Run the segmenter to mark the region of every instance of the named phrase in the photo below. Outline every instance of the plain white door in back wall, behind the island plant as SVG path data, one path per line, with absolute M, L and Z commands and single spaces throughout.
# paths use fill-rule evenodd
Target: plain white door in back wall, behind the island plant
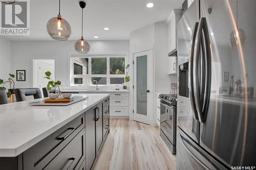
M 38 87 L 43 88 L 48 84 L 48 79 L 46 77 L 45 72 L 50 71 L 52 73 L 51 78 L 55 80 L 55 66 L 54 60 L 47 61 L 38 61 Z

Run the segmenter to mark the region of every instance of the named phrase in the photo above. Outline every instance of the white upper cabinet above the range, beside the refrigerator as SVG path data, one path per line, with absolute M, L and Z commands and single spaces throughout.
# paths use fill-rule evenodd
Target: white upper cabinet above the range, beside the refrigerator
M 174 9 L 165 22 L 167 25 L 167 44 L 169 54 L 177 51 L 176 24 L 180 20 L 181 15 L 182 10 Z

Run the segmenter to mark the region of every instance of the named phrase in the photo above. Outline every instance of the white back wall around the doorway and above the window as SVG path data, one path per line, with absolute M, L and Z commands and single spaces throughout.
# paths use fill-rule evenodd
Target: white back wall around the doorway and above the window
M 89 41 L 92 54 L 129 54 L 129 41 Z M 76 53 L 75 41 L 12 41 L 12 72 L 26 69 L 26 81 L 16 82 L 17 88 L 33 87 L 33 59 L 55 59 L 56 79 L 70 85 L 69 54 Z M 129 61 L 129 60 L 128 60 Z

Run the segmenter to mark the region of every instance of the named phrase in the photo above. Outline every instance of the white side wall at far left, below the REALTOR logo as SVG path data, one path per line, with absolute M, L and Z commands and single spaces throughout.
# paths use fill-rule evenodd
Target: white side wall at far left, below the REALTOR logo
M 0 79 L 7 80 L 9 73 L 15 75 L 11 72 L 11 41 L 0 36 Z

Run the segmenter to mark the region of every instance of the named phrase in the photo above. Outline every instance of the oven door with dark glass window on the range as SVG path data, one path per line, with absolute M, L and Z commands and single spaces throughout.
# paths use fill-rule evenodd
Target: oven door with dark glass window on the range
M 160 129 L 168 140 L 176 144 L 176 109 L 175 106 L 160 101 Z

